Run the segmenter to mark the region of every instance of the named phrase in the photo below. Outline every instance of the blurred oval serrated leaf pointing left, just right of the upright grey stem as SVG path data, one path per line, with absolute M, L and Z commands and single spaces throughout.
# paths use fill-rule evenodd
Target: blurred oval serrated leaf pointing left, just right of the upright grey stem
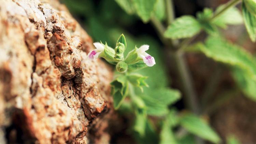
M 189 38 L 199 33 L 200 30 L 201 25 L 193 16 L 182 16 L 168 26 L 164 35 L 172 39 Z

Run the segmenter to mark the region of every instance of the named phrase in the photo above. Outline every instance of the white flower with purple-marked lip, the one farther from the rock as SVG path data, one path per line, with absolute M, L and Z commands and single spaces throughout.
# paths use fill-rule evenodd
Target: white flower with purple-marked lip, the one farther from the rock
M 149 45 L 142 45 L 140 48 L 136 50 L 138 56 L 143 59 L 143 62 L 148 66 L 152 67 L 156 64 L 154 57 L 147 54 L 145 51 L 147 51 L 149 48 Z

